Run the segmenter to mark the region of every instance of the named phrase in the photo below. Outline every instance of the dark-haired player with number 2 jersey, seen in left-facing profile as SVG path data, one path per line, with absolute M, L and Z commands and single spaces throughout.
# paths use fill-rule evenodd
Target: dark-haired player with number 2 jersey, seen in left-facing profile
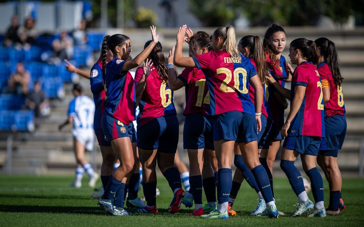
M 317 62 L 316 44 L 312 40 L 297 38 L 290 43 L 289 58 L 297 65 L 292 77 L 291 90 L 283 88 L 272 76 L 268 77 L 274 87 L 291 101 L 288 117 L 281 134 L 283 143 L 281 169 L 288 177 L 299 202 L 290 216 L 300 216 L 307 210 L 307 216 L 325 217 L 324 185 L 316 167 L 316 157 L 324 131 L 324 101 L 320 75 L 312 62 Z M 289 70 L 293 72 L 292 66 Z M 302 181 L 302 175 L 294 166 L 301 156 L 302 167 L 311 181 L 315 204 L 309 200 Z

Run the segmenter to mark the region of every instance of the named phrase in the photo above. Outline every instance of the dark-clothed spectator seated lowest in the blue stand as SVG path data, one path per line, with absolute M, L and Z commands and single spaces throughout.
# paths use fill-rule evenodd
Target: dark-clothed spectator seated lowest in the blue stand
M 29 92 L 25 105 L 35 113 L 35 125 L 39 126 L 43 118 L 50 114 L 49 103 L 39 81 L 34 82 L 34 90 Z

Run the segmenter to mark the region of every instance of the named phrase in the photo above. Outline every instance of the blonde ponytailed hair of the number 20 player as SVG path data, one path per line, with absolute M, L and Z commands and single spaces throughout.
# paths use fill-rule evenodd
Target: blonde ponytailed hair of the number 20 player
M 232 60 L 241 62 L 240 52 L 236 45 L 235 29 L 233 26 L 219 27 L 214 31 L 214 37 L 220 37 L 222 40 L 222 49 L 225 49 L 230 54 Z

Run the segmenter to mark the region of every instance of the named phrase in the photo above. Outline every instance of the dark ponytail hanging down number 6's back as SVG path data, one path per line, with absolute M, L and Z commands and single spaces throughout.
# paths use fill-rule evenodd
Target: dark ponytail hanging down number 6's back
M 144 45 L 144 48 L 149 46 L 151 40 L 147 41 Z M 159 75 L 159 81 L 164 82 L 165 84 L 168 84 L 168 69 L 167 69 L 167 60 L 166 57 L 163 54 L 162 50 L 162 44 L 158 42 L 155 44 L 154 48 L 149 54 L 150 59 L 153 61 L 153 65 L 157 69 L 158 75 Z

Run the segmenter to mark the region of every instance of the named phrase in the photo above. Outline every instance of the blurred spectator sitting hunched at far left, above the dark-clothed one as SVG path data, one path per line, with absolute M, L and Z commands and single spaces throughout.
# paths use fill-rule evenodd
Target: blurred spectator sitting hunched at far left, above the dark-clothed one
M 29 71 L 24 68 L 22 62 L 18 62 L 15 72 L 10 75 L 8 81 L 9 91 L 15 94 L 27 94 L 30 80 L 31 76 Z

